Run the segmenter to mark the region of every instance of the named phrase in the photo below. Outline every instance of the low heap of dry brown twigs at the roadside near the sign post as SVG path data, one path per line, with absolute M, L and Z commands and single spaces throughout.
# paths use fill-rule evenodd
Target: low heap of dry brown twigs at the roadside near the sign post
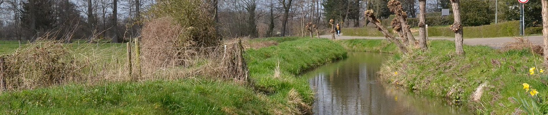
M 502 47 L 501 51 L 510 51 L 510 50 L 532 50 L 534 53 L 539 55 L 544 55 L 544 49 L 540 45 L 534 45 L 529 41 L 527 38 L 522 37 L 514 37 L 516 40 L 515 42 L 508 42 L 504 47 Z

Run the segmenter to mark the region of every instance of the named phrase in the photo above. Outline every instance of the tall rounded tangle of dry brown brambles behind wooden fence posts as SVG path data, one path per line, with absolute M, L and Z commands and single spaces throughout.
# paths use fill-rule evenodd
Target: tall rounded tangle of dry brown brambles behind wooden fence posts
M 168 68 L 175 65 L 189 65 L 186 60 L 195 53 L 190 47 L 195 42 L 187 34 L 190 28 L 182 28 L 172 17 L 162 17 L 147 22 L 141 30 L 142 67 Z

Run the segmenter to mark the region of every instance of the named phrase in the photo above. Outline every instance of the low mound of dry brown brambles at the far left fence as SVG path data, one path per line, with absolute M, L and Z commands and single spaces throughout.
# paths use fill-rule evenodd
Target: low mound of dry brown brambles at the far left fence
M 59 42 L 36 41 L 5 56 L 7 89 L 33 89 L 74 80 L 81 66 Z

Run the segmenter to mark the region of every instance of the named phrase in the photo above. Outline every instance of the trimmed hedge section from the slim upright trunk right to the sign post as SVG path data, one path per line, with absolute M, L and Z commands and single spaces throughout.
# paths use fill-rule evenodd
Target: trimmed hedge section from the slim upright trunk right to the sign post
M 520 35 L 520 22 L 508 21 L 494 25 L 464 27 L 464 38 L 515 37 Z M 449 27 L 429 27 L 429 37 L 455 37 Z

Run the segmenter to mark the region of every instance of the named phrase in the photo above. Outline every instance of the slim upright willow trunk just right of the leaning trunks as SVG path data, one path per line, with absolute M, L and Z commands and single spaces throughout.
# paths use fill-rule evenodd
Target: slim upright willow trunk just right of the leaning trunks
M 426 50 L 428 47 L 426 46 L 426 27 L 425 27 L 425 19 L 426 19 L 426 0 L 419 0 L 419 48 L 421 50 Z

